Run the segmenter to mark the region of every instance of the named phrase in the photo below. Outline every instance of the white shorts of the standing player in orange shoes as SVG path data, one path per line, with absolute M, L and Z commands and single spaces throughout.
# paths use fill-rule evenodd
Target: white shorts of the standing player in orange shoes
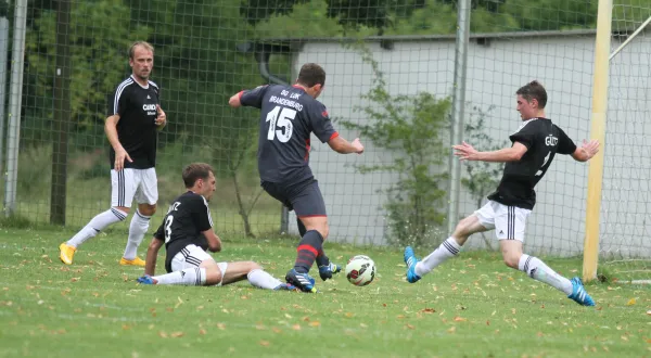
M 158 179 L 155 168 L 111 169 L 111 206 L 131 207 L 133 199 L 138 204 L 156 204 Z

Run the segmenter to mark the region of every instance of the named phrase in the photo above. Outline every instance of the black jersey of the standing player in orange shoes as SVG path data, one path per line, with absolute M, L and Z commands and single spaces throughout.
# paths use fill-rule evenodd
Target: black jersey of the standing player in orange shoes
M 158 86 L 150 80 L 146 88 L 142 87 L 133 77 L 119 84 L 108 101 L 108 116 L 119 115 L 117 138 L 133 161 L 125 161 L 125 168 L 148 169 L 156 165 L 156 104 L 161 104 Z M 113 169 L 113 148 L 110 161 Z

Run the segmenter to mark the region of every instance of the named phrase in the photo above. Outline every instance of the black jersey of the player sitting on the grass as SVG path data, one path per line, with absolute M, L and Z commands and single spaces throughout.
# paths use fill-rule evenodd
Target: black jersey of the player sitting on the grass
M 154 238 L 165 241 L 167 272 L 171 272 L 171 259 L 183 247 L 194 244 L 207 250 L 208 243 L 201 232 L 212 227 L 213 218 L 205 197 L 189 191 L 174 201 L 154 233 Z

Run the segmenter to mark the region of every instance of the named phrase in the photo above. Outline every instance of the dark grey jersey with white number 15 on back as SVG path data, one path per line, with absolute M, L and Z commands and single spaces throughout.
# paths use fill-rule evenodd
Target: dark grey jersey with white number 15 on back
M 310 132 L 326 143 L 339 136 L 326 106 L 298 86 L 260 86 L 240 92 L 245 106 L 260 108 L 258 171 L 263 181 L 301 182 L 309 168 Z

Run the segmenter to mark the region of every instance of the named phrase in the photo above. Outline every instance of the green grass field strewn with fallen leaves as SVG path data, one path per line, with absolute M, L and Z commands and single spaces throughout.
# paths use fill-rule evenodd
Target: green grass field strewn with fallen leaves
M 375 281 L 317 279 L 319 294 L 142 286 L 141 269 L 117 265 L 125 234 L 100 234 L 64 266 L 58 245 L 71 233 L 1 230 L 1 357 L 651 357 L 649 287 L 590 284 L 598 305 L 580 307 L 497 254 L 463 253 L 408 284 L 398 250 L 332 244 L 335 261 L 371 256 Z M 253 259 L 280 278 L 293 264 L 295 239 L 224 239 L 218 260 Z

